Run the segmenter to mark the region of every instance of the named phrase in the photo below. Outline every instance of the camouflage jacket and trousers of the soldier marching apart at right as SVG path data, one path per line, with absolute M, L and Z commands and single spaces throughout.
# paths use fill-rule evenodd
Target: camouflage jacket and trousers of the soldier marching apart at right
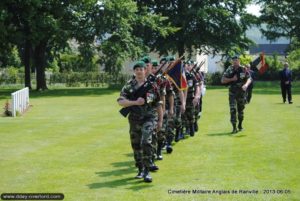
M 245 108 L 245 96 L 246 92 L 242 89 L 242 86 L 247 82 L 247 80 L 251 76 L 246 71 L 245 68 L 239 66 L 235 69 L 233 66 L 229 66 L 227 70 L 224 72 L 223 76 L 226 78 L 232 78 L 234 75 L 237 75 L 237 81 L 229 83 L 229 107 L 230 107 L 230 121 L 235 128 L 237 123 L 237 115 L 238 113 L 238 121 L 239 124 L 244 120 L 244 108 Z

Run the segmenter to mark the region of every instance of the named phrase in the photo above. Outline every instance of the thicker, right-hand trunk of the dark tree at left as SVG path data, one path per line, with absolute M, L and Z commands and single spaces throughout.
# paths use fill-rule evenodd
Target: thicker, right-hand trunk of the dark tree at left
M 46 90 L 46 76 L 45 76 L 45 64 L 46 64 L 46 41 L 41 41 L 34 50 L 34 62 L 36 68 L 36 90 Z

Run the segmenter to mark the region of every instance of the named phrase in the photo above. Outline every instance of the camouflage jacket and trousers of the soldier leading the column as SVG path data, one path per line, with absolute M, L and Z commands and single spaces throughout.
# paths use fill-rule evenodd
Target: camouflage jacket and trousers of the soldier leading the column
M 138 89 L 135 79 L 129 80 L 122 88 L 120 96 L 129 99 Z M 160 104 L 157 87 L 153 85 L 145 98 L 145 104 L 136 106 L 138 110 L 130 112 L 128 120 L 130 126 L 130 141 L 134 153 L 135 165 L 139 169 L 149 169 L 152 163 L 152 135 L 156 128 L 156 107 Z

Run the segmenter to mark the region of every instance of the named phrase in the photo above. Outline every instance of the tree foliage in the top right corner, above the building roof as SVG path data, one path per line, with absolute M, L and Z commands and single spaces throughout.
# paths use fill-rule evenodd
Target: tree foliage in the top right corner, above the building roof
M 269 40 L 287 37 L 300 41 L 300 2 L 295 0 L 259 0 L 260 21 L 266 24 L 262 33 Z

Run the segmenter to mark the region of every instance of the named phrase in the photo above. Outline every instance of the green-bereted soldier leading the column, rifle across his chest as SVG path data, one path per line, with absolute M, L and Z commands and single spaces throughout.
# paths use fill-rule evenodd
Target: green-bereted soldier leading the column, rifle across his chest
M 122 107 L 135 106 L 129 113 L 130 141 L 134 153 L 135 165 L 138 168 L 136 178 L 144 178 L 145 182 L 152 182 L 149 174 L 152 165 L 152 135 L 155 127 L 162 126 L 162 106 L 155 83 L 145 97 L 130 99 L 132 94 L 141 87 L 146 80 L 145 63 L 137 62 L 133 66 L 135 77 L 129 80 L 122 88 L 118 103 Z M 158 115 L 158 121 L 156 122 Z

